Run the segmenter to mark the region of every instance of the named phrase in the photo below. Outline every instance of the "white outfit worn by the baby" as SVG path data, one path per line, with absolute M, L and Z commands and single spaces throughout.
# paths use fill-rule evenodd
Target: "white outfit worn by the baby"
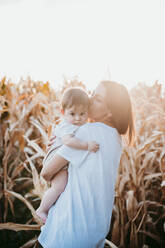
M 43 159 L 43 166 L 53 158 L 58 148 L 63 145 L 62 138 L 65 135 L 75 134 L 78 128 L 79 126 L 73 125 L 64 119 L 57 126 L 53 126 L 52 134 L 56 136 L 56 139 Z

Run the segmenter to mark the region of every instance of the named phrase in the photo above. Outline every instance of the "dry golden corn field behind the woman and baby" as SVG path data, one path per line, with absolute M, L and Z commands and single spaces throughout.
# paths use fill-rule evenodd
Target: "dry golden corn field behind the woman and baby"
M 35 247 L 42 225 L 35 209 L 48 188 L 42 159 L 60 96 L 75 85 L 85 88 L 76 78 L 56 91 L 31 78 L 0 81 L 0 247 Z M 155 82 L 130 94 L 136 140 L 123 148 L 107 240 L 119 248 L 165 247 L 165 93 Z

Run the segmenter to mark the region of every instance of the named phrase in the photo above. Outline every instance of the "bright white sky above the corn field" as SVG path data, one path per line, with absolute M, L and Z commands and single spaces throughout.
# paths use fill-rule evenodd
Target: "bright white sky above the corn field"
M 0 0 L 0 78 L 165 84 L 164 0 Z

